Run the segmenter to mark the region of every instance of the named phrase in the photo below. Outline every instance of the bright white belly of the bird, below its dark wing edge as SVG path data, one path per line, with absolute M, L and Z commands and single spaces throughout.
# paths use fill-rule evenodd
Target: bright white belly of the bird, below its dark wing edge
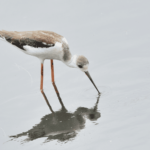
M 32 55 L 35 57 L 38 57 L 42 60 L 44 59 L 57 59 L 62 60 L 63 57 L 63 51 L 62 51 L 62 45 L 55 44 L 53 47 L 48 48 L 35 48 L 29 45 L 24 46 L 25 53 L 28 55 Z

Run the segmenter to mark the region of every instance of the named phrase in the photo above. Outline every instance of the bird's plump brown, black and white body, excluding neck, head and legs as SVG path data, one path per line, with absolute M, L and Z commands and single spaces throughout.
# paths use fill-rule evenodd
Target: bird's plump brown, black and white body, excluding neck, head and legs
M 71 57 L 66 39 L 52 31 L 0 31 L 0 38 L 41 59 L 68 60 Z M 62 50 L 62 52 L 60 52 Z

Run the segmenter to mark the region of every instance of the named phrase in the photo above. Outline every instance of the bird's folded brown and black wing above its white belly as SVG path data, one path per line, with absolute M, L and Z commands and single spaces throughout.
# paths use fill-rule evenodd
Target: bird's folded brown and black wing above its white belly
M 61 42 L 62 36 L 51 31 L 0 31 L 0 37 L 7 42 L 25 50 L 24 46 L 29 45 L 35 48 L 53 47 L 56 42 Z

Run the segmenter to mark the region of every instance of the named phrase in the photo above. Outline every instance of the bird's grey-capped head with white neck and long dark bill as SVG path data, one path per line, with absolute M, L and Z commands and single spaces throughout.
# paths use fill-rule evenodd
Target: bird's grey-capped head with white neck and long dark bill
M 81 71 L 83 71 L 88 76 L 90 81 L 93 83 L 94 87 L 98 91 L 98 94 L 100 94 L 98 88 L 96 87 L 94 81 L 92 80 L 92 77 L 90 76 L 90 74 L 88 72 L 89 61 L 86 57 L 84 57 L 82 55 L 74 55 L 74 56 L 72 56 L 70 62 L 67 63 L 67 65 L 69 67 L 78 68 Z

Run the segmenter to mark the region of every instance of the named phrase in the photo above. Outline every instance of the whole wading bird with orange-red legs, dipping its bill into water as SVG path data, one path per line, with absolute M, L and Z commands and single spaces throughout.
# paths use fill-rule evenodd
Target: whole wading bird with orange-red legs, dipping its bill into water
M 78 68 L 83 71 L 95 86 L 98 94 L 98 88 L 93 82 L 89 72 L 89 61 L 81 55 L 72 55 L 69 45 L 65 37 L 51 31 L 0 31 L 0 39 L 18 47 L 22 52 L 35 56 L 41 61 L 41 85 L 40 90 L 46 100 L 47 105 L 51 109 L 48 99 L 43 91 L 43 63 L 45 59 L 51 61 L 51 78 L 52 84 L 56 91 L 57 97 L 61 102 L 58 89 L 54 81 L 54 64 L 53 59 L 60 60 L 64 64 L 72 68 Z

